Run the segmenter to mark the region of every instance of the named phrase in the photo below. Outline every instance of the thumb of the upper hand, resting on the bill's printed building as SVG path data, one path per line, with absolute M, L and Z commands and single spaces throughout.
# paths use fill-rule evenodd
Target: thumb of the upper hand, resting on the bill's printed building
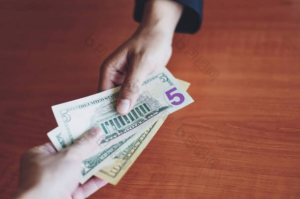
M 133 65 L 128 67 L 117 101 L 117 112 L 119 114 L 128 114 L 133 108 L 139 96 L 140 87 L 147 75 L 147 68 L 145 65 L 141 65 L 141 63 L 135 64 L 134 67 Z

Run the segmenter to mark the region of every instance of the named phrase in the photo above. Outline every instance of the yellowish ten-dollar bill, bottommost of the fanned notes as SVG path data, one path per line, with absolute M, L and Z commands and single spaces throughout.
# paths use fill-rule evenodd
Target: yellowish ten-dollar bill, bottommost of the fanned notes
M 178 80 L 180 85 L 186 90 L 190 85 L 187 82 Z M 168 115 L 167 115 L 168 116 Z M 128 171 L 134 161 L 139 157 L 142 151 L 146 148 L 148 143 L 151 141 L 153 136 L 156 134 L 160 126 L 163 124 L 167 116 L 158 119 L 156 122 L 147 127 L 143 134 L 139 134 L 137 139 L 133 138 L 128 142 L 125 149 L 120 151 L 117 150 L 117 155 L 113 158 L 113 164 L 102 167 L 99 172 L 94 175 L 108 181 L 113 185 L 117 185 L 123 175 Z M 116 153 L 115 153 L 116 154 Z

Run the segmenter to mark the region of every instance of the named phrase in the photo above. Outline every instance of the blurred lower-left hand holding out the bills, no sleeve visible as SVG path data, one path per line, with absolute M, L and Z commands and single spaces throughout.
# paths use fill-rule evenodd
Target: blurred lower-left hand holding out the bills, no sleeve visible
M 21 158 L 14 199 L 85 199 L 106 185 L 95 176 L 79 184 L 81 163 L 102 136 L 100 128 L 93 128 L 59 153 L 49 142 L 28 150 Z

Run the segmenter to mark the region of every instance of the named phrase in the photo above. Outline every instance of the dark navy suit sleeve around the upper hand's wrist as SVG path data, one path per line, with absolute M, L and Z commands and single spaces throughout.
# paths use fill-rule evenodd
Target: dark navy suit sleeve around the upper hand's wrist
M 182 15 L 175 29 L 176 32 L 195 33 L 202 22 L 203 0 L 174 0 L 184 5 Z M 135 0 L 134 20 L 142 21 L 147 0 Z

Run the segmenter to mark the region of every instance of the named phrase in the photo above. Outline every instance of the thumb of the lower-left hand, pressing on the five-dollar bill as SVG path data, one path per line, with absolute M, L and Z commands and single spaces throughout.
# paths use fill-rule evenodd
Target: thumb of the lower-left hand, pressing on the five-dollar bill
M 82 162 L 98 146 L 103 136 L 102 129 L 94 127 L 68 147 L 68 152 Z

